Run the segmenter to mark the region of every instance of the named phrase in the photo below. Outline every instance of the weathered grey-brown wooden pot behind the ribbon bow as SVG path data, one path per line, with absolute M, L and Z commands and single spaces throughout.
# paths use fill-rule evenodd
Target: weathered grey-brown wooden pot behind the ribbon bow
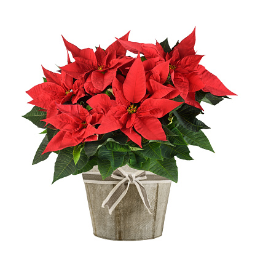
M 122 169 L 127 173 L 137 172 L 128 166 Z M 112 182 L 111 177 L 103 181 L 101 175 L 95 174 L 99 174 L 97 166 L 90 172 L 82 174 L 95 236 L 122 241 L 145 240 L 162 236 L 171 186 L 169 180 L 146 172 L 146 180 L 141 181 L 151 204 L 152 214 L 149 214 L 136 186 L 131 183 L 127 194 L 110 215 L 108 207 L 102 207 L 102 202 L 119 181 Z

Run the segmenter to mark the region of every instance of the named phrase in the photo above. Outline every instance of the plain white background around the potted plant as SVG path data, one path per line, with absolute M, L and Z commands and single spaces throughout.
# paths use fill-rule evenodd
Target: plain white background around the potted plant
M 0 254 L 255 255 L 254 14 L 252 1 L 2 1 Z M 202 64 L 233 92 L 200 119 L 216 152 L 190 146 L 177 159 L 163 236 L 108 241 L 93 236 L 80 175 L 51 185 L 55 154 L 32 166 L 44 135 L 21 118 L 25 91 L 42 82 L 41 65 L 66 64 L 61 34 L 80 48 L 130 41 L 170 46 L 196 26 Z M 120 250 L 123 250 L 120 253 Z

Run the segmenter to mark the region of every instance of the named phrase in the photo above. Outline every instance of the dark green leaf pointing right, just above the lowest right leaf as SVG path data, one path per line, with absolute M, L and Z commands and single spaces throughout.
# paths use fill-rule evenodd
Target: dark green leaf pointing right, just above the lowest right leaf
M 193 158 L 190 157 L 189 148 L 184 145 L 176 145 L 176 146 L 170 146 L 162 144 L 160 146 L 162 151 L 163 158 L 173 158 L 174 156 L 177 156 L 178 158 L 184 159 L 184 160 L 193 160 Z

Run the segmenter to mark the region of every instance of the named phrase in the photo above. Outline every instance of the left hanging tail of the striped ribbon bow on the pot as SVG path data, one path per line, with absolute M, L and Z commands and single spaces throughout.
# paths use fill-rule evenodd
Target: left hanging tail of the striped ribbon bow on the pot
M 130 185 L 130 182 L 125 184 L 128 179 L 124 178 L 121 182 L 119 182 L 114 188 L 112 188 L 111 192 L 108 194 L 107 198 L 104 199 L 102 203 L 102 207 L 108 206 L 109 214 L 112 214 L 112 210 L 115 209 L 117 204 L 124 198 L 125 194 L 127 194 L 128 187 Z

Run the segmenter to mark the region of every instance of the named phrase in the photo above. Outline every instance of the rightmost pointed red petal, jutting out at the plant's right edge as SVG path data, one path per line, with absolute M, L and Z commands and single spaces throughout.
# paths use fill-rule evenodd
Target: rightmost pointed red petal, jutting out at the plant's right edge
M 205 87 L 202 88 L 204 92 L 211 92 L 216 96 L 237 95 L 227 89 L 219 78 L 206 70 L 204 66 L 198 65 L 197 71 L 202 74 L 202 80 L 205 83 Z

